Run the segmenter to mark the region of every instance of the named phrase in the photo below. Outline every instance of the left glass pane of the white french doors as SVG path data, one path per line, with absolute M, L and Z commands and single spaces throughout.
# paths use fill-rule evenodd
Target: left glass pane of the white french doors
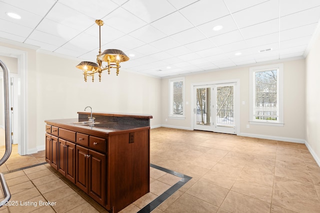
M 196 124 L 210 125 L 210 88 L 196 89 Z

